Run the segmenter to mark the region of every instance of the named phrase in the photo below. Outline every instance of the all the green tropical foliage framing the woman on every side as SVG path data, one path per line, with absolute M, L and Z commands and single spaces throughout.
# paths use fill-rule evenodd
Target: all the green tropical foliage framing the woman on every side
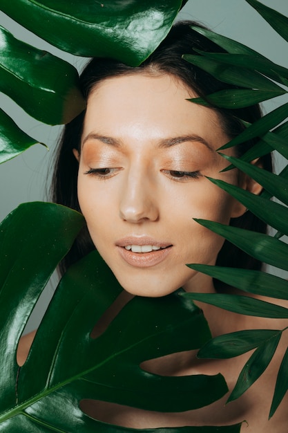
M 259 1 L 246 1 L 288 41 L 286 17 Z M 46 0 L 45 4 L 35 0 L 1 1 L 3 12 L 62 50 L 77 55 L 118 57 L 132 66 L 142 62 L 161 42 L 180 7 L 180 0 L 149 0 L 145 6 L 136 0 L 105 3 L 85 0 L 81 8 L 71 0 Z M 287 93 L 286 68 L 231 39 L 202 28 L 196 30 L 227 50 L 227 54 L 198 53 L 184 58 L 220 80 L 240 87 L 238 91 L 210 95 L 213 104 L 247 107 Z M 7 30 L 2 29 L 0 35 L 1 91 L 31 116 L 51 125 L 68 122 L 84 108 L 73 66 L 17 41 Z M 199 99 L 193 102 L 206 103 Z M 276 176 L 249 162 L 274 149 L 287 158 L 288 124 L 282 123 L 287 112 L 284 104 L 255 124 L 246 125 L 247 129 L 225 146 L 261 137 L 241 159 L 229 160 L 265 188 L 262 196 L 211 179 L 275 228 L 275 237 L 198 220 L 253 257 L 286 270 L 288 246 L 280 238 L 288 234 L 288 169 Z M 0 162 L 37 142 L 2 111 L 0 125 Z M 272 196 L 280 203 L 271 201 Z M 242 395 L 262 374 L 273 357 L 282 330 L 241 331 L 211 340 L 206 320 L 190 302 L 202 300 L 238 313 L 288 318 L 288 309 L 251 297 L 186 294 L 181 290 L 162 299 L 137 297 L 101 335 L 91 338 L 95 322 L 122 291 L 96 252 L 75 264 L 63 277 L 39 326 L 28 360 L 19 367 L 15 354 L 28 317 L 83 224 L 83 217 L 77 212 L 50 203 L 21 205 L 1 223 L 1 431 L 124 432 L 127 430 L 124 427 L 86 416 L 79 402 L 93 398 L 142 409 L 182 412 L 208 405 L 226 394 L 227 385 L 221 375 L 171 378 L 150 374 L 140 367 L 144 360 L 177 351 L 202 347 L 199 352 L 202 358 L 231 358 L 256 349 L 229 400 Z M 279 277 L 249 270 L 189 266 L 244 292 L 288 299 L 288 283 Z M 270 416 L 288 389 L 287 368 L 285 353 Z M 240 424 L 182 427 L 169 432 L 181 430 L 236 433 L 240 432 Z

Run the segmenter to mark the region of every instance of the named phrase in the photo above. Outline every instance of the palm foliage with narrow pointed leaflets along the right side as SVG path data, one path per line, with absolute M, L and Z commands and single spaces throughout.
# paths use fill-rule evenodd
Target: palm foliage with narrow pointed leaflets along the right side
M 262 5 L 259 1 L 247 0 L 247 2 L 258 10 L 279 35 L 288 42 L 287 17 Z M 209 71 L 209 73 L 218 77 L 223 82 L 234 83 L 240 86 L 240 89 L 236 91 L 227 90 L 208 95 L 207 98 L 211 104 L 227 108 L 247 107 L 255 102 L 272 98 L 273 95 L 287 93 L 288 70 L 286 68 L 273 64 L 269 59 L 251 50 L 251 48 L 242 46 L 235 41 L 231 41 L 231 39 L 216 35 L 208 30 L 197 28 L 195 30 L 198 30 L 216 42 L 216 44 L 227 50 L 227 53 L 199 53 L 200 56 L 186 55 L 184 57 L 187 61 L 204 68 L 205 71 Z M 200 98 L 195 98 L 193 102 L 207 104 L 207 102 L 204 102 Z M 204 227 L 220 234 L 256 259 L 284 270 L 288 270 L 288 246 L 280 238 L 288 234 L 288 166 L 279 175 L 276 175 L 266 172 L 264 169 L 260 169 L 249 162 L 273 150 L 278 151 L 284 158 L 288 157 L 288 124 L 287 122 L 282 123 L 286 120 L 287 116 L 288 104 L 286 102 L 278 109 L 263 116 L 262 119 L 256 121 L 253 125 L 246 125 L 247 129 L 240 136 L 219 149 L 221 151 L 222 149 L 238 145 L 245 140 L 260 137 L 257 145 L 248 151 L 247 154 L 244 154 L 242 158 L 223 156 L 231 162 L 230 168 L 238 167 L 242 172 L 247 173 L 264 187 L 264 192 L 261 196 L 255 196 L 223 181 L 210 179 L 211 182 L 238 199 L 262 221 L 275 228 L 277 230 L 275 236 L 272 237 L 268 234 L 259 234 L 240 228 L 227 227 L 213 221 L 196 220 L 198 223 L 204 225 Z M 272 131 L 270 131 L 271 129 Z M 275 197 L 278 203 L 271 201 L 271 197 Z M 189 266 L 207 275 L 216 277 L 220 281 L 239 288 L 244 292 L 288 300 L 288 283 L 279 277 L 253 270 L 219 268 L 218 266 L 199 264 L 190 264 Z M 236 313 L 258 317 L 288 318 L 287 308 L 248 296 L 226 294 L 204 295 L 201 293 L 186 293 L 184 296 L 192 300 L 208 302 L 209 304 Z M 278 331 L 240 331 L 231 333 L 230 335 L 222 335 L 211 340 L 200 350 L 200 358 L 232 358 L 256 348 L 249 361 L 244 365 L 236 387 L 231 392 L 228 401 L 241 396 L 265 371 L 276 351 L 282 331 L 285 331 L 285 329 Z M 273 416 L 287 392 L 287 369 L 288 351 L 283 357 L 276 380 L 270 417 Z

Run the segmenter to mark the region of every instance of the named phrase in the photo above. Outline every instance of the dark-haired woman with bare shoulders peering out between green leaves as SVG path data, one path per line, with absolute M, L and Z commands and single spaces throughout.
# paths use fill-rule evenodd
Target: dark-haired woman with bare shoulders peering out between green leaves
M 207 293 L 225 289 L 188 268 L 188 263 L 261 266 L 193 221 L 203 218 L 266 230 L 264 223 L 206 178 L 220 178 L 260 194 L 260 185 L 236 169 L 222 172 L 227 161 L 217 153 L 242 131 L 238 118 L 254 122 L 260 118 L 260 109 L 220 110 L 189 101 L 228 87 L 182 59 L 194 48 L 219 50 L 191 30 L 191 24 L 175 25 L 155 53 L 137 68 L 113 59 L 93 59 L 81 74 L 86 112 L 66 125 L 59 147 L 53 198 L 80 210 L 88 228 L 62 269 L 96 247 L 131 295 L 158 297 L 180 286 Z M 241 156 L 252 145 L 246 142 L 227 154 Z M 255 163 L 271 170 L 270 155 Z M 263 323 L 213 306 L 201 307 L 213 335 L 284 327 L 275 320 Z M 19 362 L 25 359 L 31 338 L 23 342 Z M 146 368 L 167 375 L 220 371 L 231 389 L 247 358 L 245 354 L 232 361 L 200 362 L 195 353 L 179 353 L 149 362 Z M 127 427 L 229 425 L 246 419 L 244 432 L 284 432 L 284 404 L 267 421 L 273 395 L 272 390 L 267 391 L 267 380 L 270 385 L 275 380 L 279 359 L 276 356 L 267 374 L 228 407 L 224 407 L 225 396 L 209 407 L 181 414 L 99 402 L 88 402 L 83 410 L 99 420 Z

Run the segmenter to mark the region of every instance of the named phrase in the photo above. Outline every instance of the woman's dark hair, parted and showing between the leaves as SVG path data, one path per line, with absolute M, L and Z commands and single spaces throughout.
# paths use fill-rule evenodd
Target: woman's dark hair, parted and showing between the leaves
M 197 55 L 195 49 L 208 52 L 224 52 L 219 46 L 193 30 L 191 26 L 199 26 L 199 24 L 193 21 L 177 22 L 160 46 L 137 67 L 127 66 L 111 58 L 91 59 L 80 76 L 80 87 L 84 98 L 87 100 L 95 84 L 106 78 L 144 72 L 151 75 L 169 74 L 175 76 L 193 92 L 206 99 L 207 95 L 216 91 L 236 89 L 236 86 L 224 84 L 209 73 L 182 59 L 184 54 Z M 219 109 L 217 107 L 213 109 L 218 112 L 222 127 L 227 136 L 231 138 L 238 136 L 244 129 L 240 119 L 253 123 L 261 117 L 258 104 L 244 109 Z M 84 116 L 85 112 L 82 112 L 64 127 L 57 148 L 54 176 L 52 176 L 52 200 L 78 211 L 80 211 L 77 199 L 78 163 L 73 156 L 73 149 L 79 150 Z M 250 140 L 238 146 L 236 149 L 238 156 L 242 156 L 256 141 L 256 139 Z M 271 154 L 262 156 L 261 164 L 264 169 L 271 171 Z M 266 224 L 249 211 L 236 219 L 231 219 L 230 225 L 256 232 L 266 232 L 267 230 Z M 62 262 L 61 271 L 64 272 L 70 264 L 73 264 L 73 262 L 94 248 L 88 230 L 85 228 L 79 234 L 73 248 Z M 224 242 L 218 254 L 217 264 L 249 269 L 260 269 L 261 267 L 260 261 L 253 259 L 228 241 Z

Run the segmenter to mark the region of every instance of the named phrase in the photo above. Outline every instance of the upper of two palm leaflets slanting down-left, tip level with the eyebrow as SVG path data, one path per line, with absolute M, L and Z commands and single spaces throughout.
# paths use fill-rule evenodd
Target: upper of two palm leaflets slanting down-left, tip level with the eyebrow
M 252 138 L 263 136 L 265 133 L 273 127 L 276 127 L 280 122 L 285 120 L 288 116 L 288 102 L 281 105 L 277 109 L 266 114 L 261 119 L 256 120 L 251 127 L 245 129 L 239 136 L 233 138 L 226 145 L 220 147 L 218 150 L 229 149 L 236 145 L 240 145 L 242 142 L 251 140 Z

